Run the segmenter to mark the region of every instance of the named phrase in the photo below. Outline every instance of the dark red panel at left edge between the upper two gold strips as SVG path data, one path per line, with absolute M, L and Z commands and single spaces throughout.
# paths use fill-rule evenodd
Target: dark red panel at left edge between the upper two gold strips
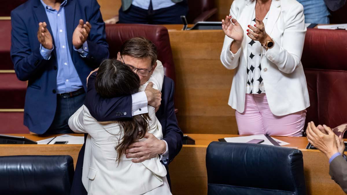
M 0 20 L 0 70 L 13 70 L 10 49 L 11 20 Z

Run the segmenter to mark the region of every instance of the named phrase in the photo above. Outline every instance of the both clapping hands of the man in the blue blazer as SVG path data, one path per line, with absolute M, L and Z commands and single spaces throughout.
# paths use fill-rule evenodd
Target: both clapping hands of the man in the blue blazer
M 84 24 L 83 20 L 79 20 L 79 24 L 75 28 L 74 34 L 72 35 L 72 44 L 76 49 L 81 48 L 83 43 L 87 40 L 92 25 L 89 22 Z M 53 39 L 51 33 L 47 29 L 45 22 L 39 23 L 39 30 L 37 31 L 37 39 L 46 49 L 53 49 Z

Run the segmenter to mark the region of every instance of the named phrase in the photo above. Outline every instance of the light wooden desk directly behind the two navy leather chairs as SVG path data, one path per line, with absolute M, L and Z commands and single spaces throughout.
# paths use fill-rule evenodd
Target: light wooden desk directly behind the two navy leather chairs
M 16 135 L 16 134 L 12 134 Z M 170 164 L 170 177 L 174 195 L 207 194 L 206 148 L 219 138 L 238 135 L 187 134 L 195 139 L 196 145 L 184 145 Z M 20 134 L 38 141 L 52 136 Z M 79 134 L 79 136 L 83 136 Z M 306 150 L 305 137 L 279 137 L 290 143 L 288 147 L 298 147 L 303 152 L 304 174 L 308 195 L 343 195 L 342 189 L 329 176 L 329 163 L 324 154 L 317 150 Z M 5 155 L 70 155 L 76 166 L 78 152 L 82 145 L 0 145 L 0 156 Z

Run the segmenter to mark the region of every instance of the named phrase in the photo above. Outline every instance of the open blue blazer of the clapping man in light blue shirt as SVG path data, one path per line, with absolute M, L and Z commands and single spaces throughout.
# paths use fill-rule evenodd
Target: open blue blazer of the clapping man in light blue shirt
M 70 54 L 85 89 L 89 73 L 109 56 L 105 24 L 99 8 L 96 0 L 68 0 L 65 5 Z M 87 40 L 89 53 L 86 58 L 82 58 L 72 44 L 72 35 L 79 19 L 92 25 Z M 40 22 L 46 22 L 48 30 L 53 34 L 40 0 L 28 0 L 11 11 L 11 59 L 18 79 L 28 80 L 24 125 L 37 134 L 45 133 L 52 124 L 57 107 L 58 73 L 55 49 L 49 60 L 44 60 L 40 54 L 40 42 L 37 40 Z

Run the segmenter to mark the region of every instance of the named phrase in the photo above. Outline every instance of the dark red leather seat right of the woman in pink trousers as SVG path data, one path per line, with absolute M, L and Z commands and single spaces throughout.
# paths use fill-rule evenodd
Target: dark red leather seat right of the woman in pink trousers
M 347 31 L 307 29 L 302 63 L 311 106 L 307 122 L 347 122 Z M 305 126 L 305 129 L 306 129 Z

